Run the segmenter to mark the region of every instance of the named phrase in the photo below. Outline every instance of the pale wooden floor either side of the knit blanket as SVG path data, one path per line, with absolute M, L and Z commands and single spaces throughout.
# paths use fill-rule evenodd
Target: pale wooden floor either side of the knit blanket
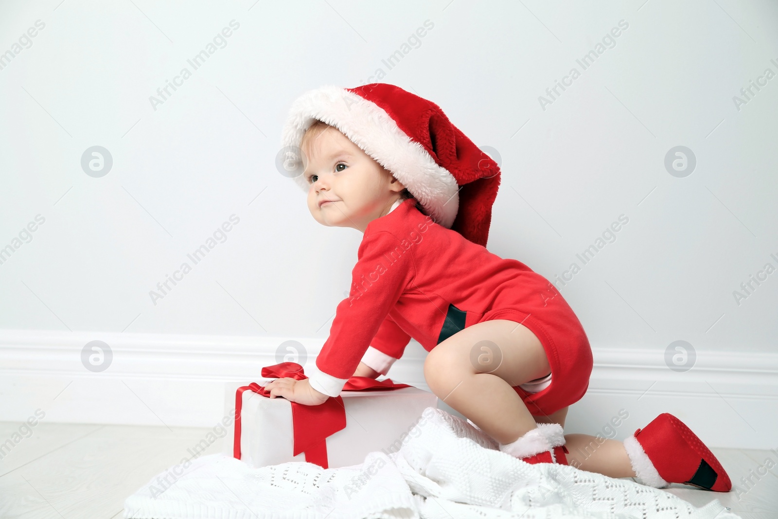
M 0 442 L 19 430 L 19 423 L 0 422 Z M 124 499 L 152 476 L 191 457 L 187 449 L 209 429 L 165 426 L 105 426 L 39 423 L 0 461 L 2 519 L 110 519 L 123 517 Z M 222 450 L 221 439 L 204 454 Z M 748 489 L 740 499 L 679 485 L 668 492 L 703 506 L 719 499 L 746 519 L 778 517 L 778 466 L 753 484 L 741 476 L 756 472 L 769 451 L 713 449 L 734 485 Z M 750 489 L 749 489 L 750 488 Z

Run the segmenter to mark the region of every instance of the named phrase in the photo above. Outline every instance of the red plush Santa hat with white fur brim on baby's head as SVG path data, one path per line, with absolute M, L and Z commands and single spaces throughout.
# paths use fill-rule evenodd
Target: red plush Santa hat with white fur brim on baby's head
M 282 146 L 297 160 L 316 120 L 389 170 L 433 221 L 486 246 L 499 167 L 435 103 L 387 83 L 310 90 L 293 102 L 282 131 Z M 308 191 L 302 168 L 296 170 L 294 180 Z

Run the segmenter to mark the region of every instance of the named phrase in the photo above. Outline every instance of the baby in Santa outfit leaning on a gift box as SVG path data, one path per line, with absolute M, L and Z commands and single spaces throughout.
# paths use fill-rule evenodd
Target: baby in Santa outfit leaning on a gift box
M 311 215 L 363 233 L 349 297 L 306 367 L 271 398 L 320 405 L 349 377 L 386 374 L 414 338 L 435 395 L 528 463 L 656 487 L 727 492 L 713 453 L 679 419 L 626 440 L 563 433 L 593 366 L 580 321 L 551 282 L 485 248 L 499 167 L 429 100 L 384 83 L 326 86 L 296 100 L 283 136 L 300 149 Z

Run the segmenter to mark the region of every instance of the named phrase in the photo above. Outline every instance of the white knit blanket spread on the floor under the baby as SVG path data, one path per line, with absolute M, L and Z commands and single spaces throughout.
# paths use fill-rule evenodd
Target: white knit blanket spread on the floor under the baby
M 176 478 L 171 481 L 170 472 L 152 478 L 124 502 L 124 517 L 738 517 L 718 500 L 696 508 L 629 479 L 566 465 L 527 464 L 499 451 L 470 423 L 432 407 L 397 452 L 371 452 L 361 465 L 324 469 L 291 462 L 250 468 L 226 454 L 211 454 Z

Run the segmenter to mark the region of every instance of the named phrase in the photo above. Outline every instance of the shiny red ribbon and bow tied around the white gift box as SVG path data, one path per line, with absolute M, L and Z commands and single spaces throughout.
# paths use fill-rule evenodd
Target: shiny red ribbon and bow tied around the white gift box
M 293 378 L 304 380 L 308 378 L 303 373 L 303 366 L 298 363 L 280 363 L 262 368 L 265 378 Z M 393 390 L 401 387 L 411 387 L 408 384 L 394 384 L 391 378 L 375 380 L 370 377 L 350 377 L 343 386 L 343 391 L 375 391 Z M 270 398 L 270 391 L 265 390 L 256 382 L 238 387 L 235 392 L 235 439 L 233 440 L 233 456 L 240 459 L 240 409 L 243 407 L 244 391 L 251 390 L 263 397 Z M 330 397 L 321 405 L 303 405 L 292 403 L 292 430 L 294 434 L 293 456 L 305 453 L 305 461 L 328 468 L 327 437 L 345 429 L 345 407 L 341 396 Z

